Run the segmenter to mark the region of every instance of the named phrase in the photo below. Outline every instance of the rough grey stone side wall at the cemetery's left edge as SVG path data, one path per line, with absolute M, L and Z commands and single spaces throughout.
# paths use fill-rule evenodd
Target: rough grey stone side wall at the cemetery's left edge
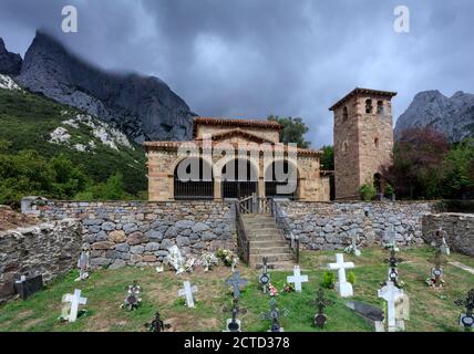
M 45 283 L 76 264 L 82 244 L 81 223 L 63 219 L 0 232 L 0 302 L 14 294 L 20 275 L 43 274 Z

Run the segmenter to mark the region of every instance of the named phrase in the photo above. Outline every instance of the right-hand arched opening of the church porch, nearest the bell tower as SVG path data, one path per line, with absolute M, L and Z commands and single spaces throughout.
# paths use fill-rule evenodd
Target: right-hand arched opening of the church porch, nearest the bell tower
M 282 180 L 282 177 L 286 179 Z M 267 198 L 297 199 L 298 169 L 293 164 L 282 160 L 274 162 L 267 167 L 265 171 L 265 196 Z

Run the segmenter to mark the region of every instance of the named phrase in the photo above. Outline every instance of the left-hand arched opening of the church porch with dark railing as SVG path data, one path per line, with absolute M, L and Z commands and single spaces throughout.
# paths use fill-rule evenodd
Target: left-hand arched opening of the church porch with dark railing
M 175 200 L 213 200 L 214 176 L 212 166 L 197 157 L 181 162 L 174 171 L 174 198 Z

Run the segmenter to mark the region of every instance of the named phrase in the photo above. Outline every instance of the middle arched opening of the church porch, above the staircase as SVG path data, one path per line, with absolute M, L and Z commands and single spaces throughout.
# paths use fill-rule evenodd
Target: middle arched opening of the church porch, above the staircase
M 223 167 L 223 198 L 241 199 L 257 192 L 258 174 L 248 159 L 233 159 Z

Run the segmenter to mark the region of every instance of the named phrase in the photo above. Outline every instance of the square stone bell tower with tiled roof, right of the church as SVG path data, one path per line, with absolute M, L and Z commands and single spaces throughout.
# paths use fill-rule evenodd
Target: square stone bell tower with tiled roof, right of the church
M 334 114 L 336 199 L 357 200 L 359 187 L 383 189 L 381 167 L 393 160 L 391 100 L 395 92 L 356 88 L 329 110 Z

